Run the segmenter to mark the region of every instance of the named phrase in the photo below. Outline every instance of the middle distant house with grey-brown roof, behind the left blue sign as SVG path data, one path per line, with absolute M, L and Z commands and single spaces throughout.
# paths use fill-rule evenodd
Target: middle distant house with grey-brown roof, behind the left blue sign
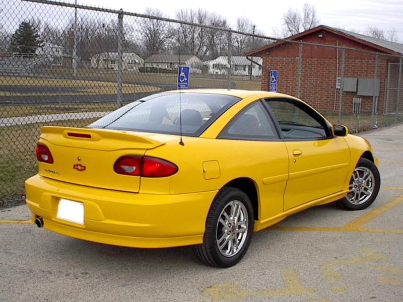
M 191 73 L 201 73 L 203 62 L 195 55 L 181 54 L 180 64 L 190 67 Z M 176 72 L 179 66 L 179 56 L 177 54 L 153 54 L 145 60 L 144 66 L 147 70 L 169 70 Z

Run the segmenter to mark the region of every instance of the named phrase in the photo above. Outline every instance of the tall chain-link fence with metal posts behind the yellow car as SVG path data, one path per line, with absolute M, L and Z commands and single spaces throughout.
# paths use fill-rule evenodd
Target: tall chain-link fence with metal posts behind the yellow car
M 217 16 L 176 21 L 43 0 L 0 9 L 0 206 L 24 200 L 41 126 L 86 126 L 176 89 L 179 65 L 190 67 L 189 88 L 270 90 L 277 70 L 278 92 L 353 131 L 402 120 L 396 55 L 237 32 Z

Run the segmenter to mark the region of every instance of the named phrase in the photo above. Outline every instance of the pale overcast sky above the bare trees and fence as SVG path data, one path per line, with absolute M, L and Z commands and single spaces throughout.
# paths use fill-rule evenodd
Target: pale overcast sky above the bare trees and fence
M 74 3 L 74 0 L 64 0 L 62 2 Z M 181 8 L 201 8 L 225 17 L 233 29 L 235 29 L 237 18 L 247 17 L 268 36 L 274 36 L 276 28 L 280 32 L 283 24 L 283 14 L 290 7 L 301 10 L 304 2 L 296 0 L 255 0 L 252 2 L 217 0 L 78 0 L 78 4 L 82 5 L 116 10 L 123 9 L 133 13 L 144 13 L 147 7 L 158 8 L 169 18 L 175 18 L 175 11 Z M 310 0 L 307 3 L 314 5 L 320 24 L 346 30 L 354 29 L 356 32 L 363 34 L 365 34 L 368 26 L 375 26 L 385 31 L 394 28 L 397 31 L 399 42 L 403 43 L 403 0 Z M 14 7 L 14 11 L 7 11 L 8 7 Z M 12 25 L 12 27 L 18 26 L 17 21 L 26 18 L 30 8 L 39 7 L 43 10 L 42 16 L 46 16 L 49 20 L 55 22 L 54 18 L 52 19 L 51 17 L 52 12 L 57 11 L 55 7 L 22 3 L 21 0 L 2 0 L 0 3 L 0 23 L 4 22 L 6 27 L 9 27 L 9 25 Z M 47 11 L 47 9 L 49 10 Z M 38 11 L 35 11 L 35 14 L 38 14 Z M 10 19 L 13 19 L 13 24 L 11 24 Z

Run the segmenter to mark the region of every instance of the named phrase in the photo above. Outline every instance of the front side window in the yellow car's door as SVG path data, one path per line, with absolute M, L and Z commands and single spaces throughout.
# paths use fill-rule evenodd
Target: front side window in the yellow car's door
M 285 139 L 317 139 L 330 136 L 326 122 L 309 107 L 291 100 L 268 99 L 267 105 L 280 124 Z M 304 108 L 306 107 L 306 108 Z

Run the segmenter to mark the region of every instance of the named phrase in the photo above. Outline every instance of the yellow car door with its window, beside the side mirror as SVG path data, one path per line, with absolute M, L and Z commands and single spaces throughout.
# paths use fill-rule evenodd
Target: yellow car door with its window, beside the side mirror
M 289 158 L 284 211 L 343 190 L 350 150 L 343 137 L 305 103 L 287 98 L 266 99 L 276 117 Z

